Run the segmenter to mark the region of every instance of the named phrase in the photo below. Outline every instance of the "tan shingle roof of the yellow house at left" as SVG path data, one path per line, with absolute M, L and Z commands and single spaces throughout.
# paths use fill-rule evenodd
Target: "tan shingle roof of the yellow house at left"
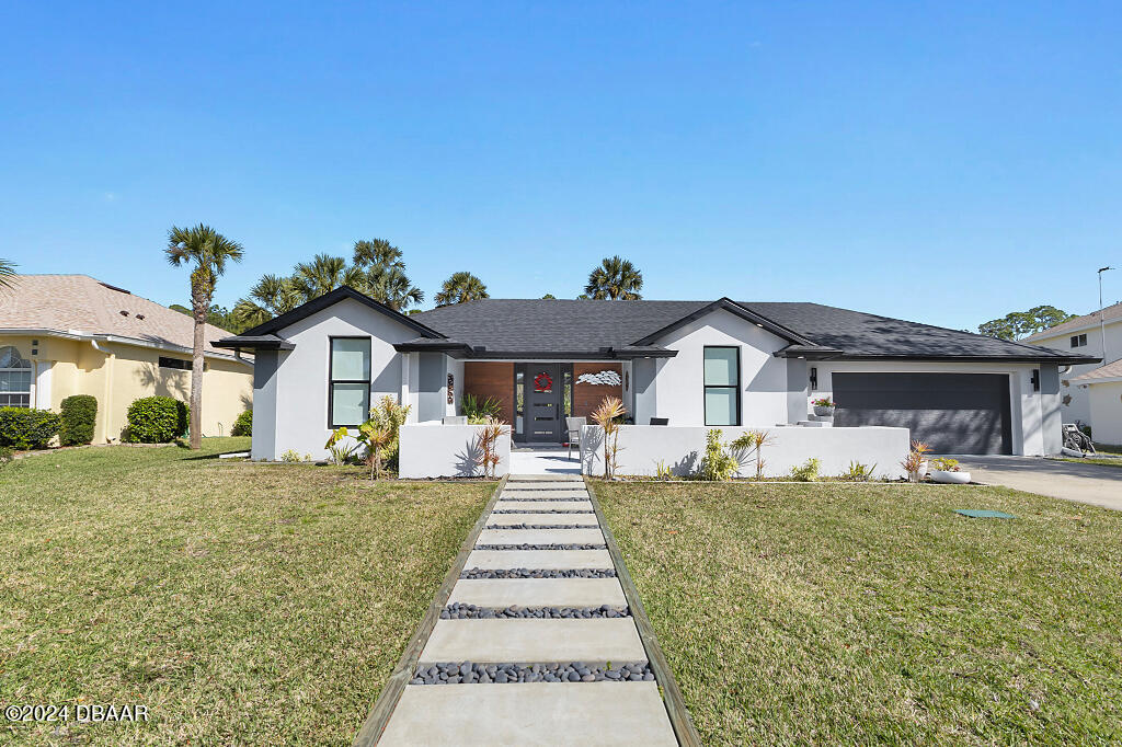
M 194 344 L 194 321 L 154 301 L 89 275 L 17 275 L 0 288 L 0 331 L 43 330 L 61 334 L 127 338 L 135 344 L 180 348 Z M 211 343 L 230 334 L 208 324 L 206 354 L 229 358 Z

